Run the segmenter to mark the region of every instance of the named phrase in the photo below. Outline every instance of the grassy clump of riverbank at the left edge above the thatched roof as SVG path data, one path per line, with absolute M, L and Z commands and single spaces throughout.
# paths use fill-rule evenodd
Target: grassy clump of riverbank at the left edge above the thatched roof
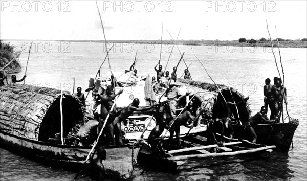
M 16 51 L 15 48 L 0 40 L 0 68 L 6 66 L 20 51 Z M 21 71 L 19 64 L 19 55 L 5 68 L 7 74 L 14 74 Z

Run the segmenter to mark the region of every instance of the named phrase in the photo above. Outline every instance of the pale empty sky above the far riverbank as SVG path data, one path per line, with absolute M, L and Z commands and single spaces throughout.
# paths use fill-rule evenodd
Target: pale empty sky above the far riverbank
M 107 40 L 307 37 L 307 1 L 97 1 Z M 0 1 L 1 39 L 103 40 L 95 1 Z M 275 33 L 277 27 L 277 36 Z

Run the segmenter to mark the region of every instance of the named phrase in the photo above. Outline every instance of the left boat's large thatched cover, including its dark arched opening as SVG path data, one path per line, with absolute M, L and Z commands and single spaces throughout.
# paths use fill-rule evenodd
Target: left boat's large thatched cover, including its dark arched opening
M 45 141 L 60 132 L 60 90 L 31 85 L 9 84 L 0 87 L 0 129 L 20 137 Z M 63 135 L 84 121 L 78 99 L 63 96 Z

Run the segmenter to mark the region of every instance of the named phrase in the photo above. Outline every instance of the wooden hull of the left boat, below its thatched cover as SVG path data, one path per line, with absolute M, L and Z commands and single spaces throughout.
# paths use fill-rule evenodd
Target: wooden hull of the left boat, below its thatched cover
M 32 160 L 62 168 L 72 172 L 79 172 L 83 166 L 91 147 L 68 146 L 52 144 L 18 137 L 0 130 L 0 145 L 15 154 L 29 157 Z M 127 179 L 131 175 L 132 149 L 128 145 L 107 146 L 106 160 L 103 164 L 109 179 Z M 134 149 L 135 154 L 138 148 Z M 136 159 L 136 157 L 135 157 Z

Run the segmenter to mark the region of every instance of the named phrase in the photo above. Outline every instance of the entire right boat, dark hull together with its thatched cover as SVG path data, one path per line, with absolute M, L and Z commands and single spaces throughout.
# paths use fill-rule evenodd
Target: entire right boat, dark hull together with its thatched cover
M 205 107 L 206 112 L 203 115 L 204 120 L 223 118 L 225 116 L 225 101 L 223 100 L 221 94 L 218 92 L 214 84 L 200 81 L 191 81 L 187 79 L 178 79 L 177 82 L 178 84 L 186 85 L 188 88 L 193 89 L 194 92 L 200 91 L 203 100 L 209 98 L 210 104 Z M 218 86 L 220 87 L 221 92 L 227 102 L 239 102 L 244 99 L 244 96 L 237 92 L 237 90 L 226 87 L 224 85 Z M 201 89 L 203 89 L 203 92 Z M 202 104 L 204 104 L 204 102 Z M 248 102 L 245 105 L 238 105 L 237 108 L 239 112 L 239 118 L 242 123 L 251 118 L 252 115 Z M 235 109 L 233 108 L 233 110 Z M 237 112 L 232 112 L 234 119 L 238 120 Z M 255 127 L 254 129 L 258 137 L 256 143 L 263 145 L 275 145 L 276 150 L 281 152 L 288 152 L 295 130 L 299 125 L 299 120 L 290 118 L 290 122 L 288 122 L 288 118 L 286 118 L 284 121 L 285 123 L 259 124 L 257 127 Z M 244 125 L 238 125 L 233 122 L 232 126 L 234 129 L 234 137 L 251 141 L 251 135 L 244 129 Z

